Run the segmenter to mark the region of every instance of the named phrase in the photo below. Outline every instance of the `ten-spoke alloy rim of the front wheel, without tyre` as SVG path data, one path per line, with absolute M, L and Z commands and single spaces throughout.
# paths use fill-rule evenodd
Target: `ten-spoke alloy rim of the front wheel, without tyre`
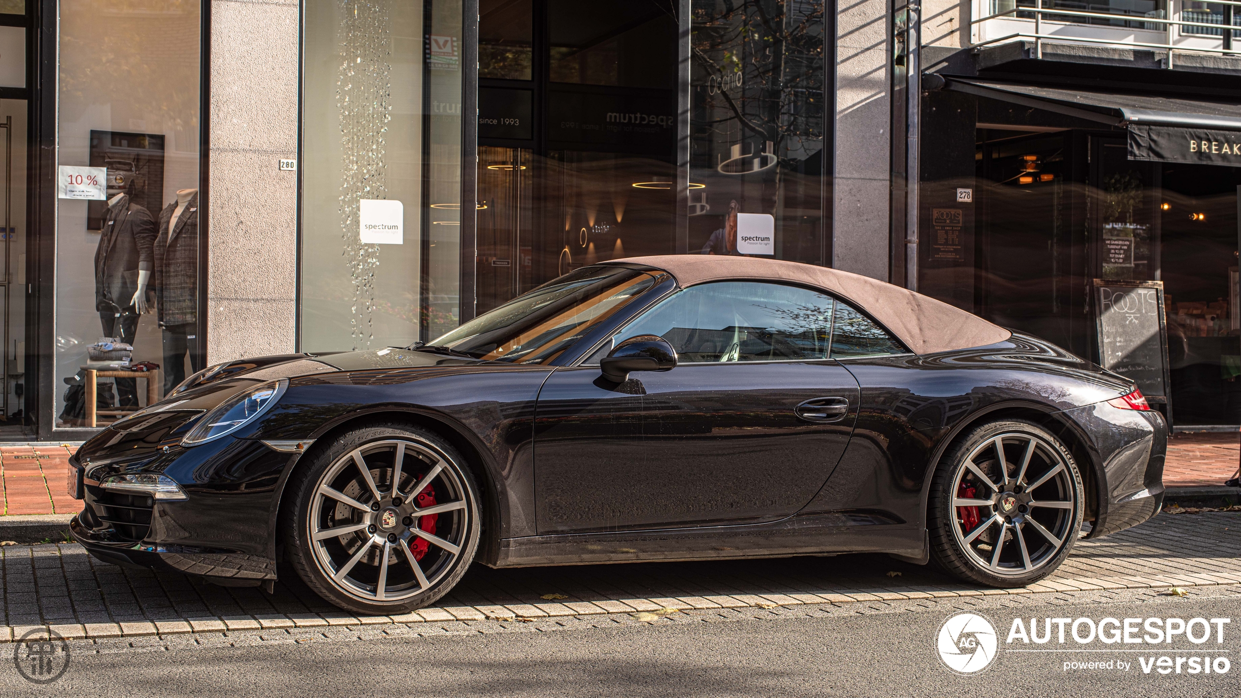
M 386 439 L 336 459 L 314 486 L 308 541 L 328 580 L 369 603 L 410 599 L 450 573 L 473 501 L 449 459 Z

